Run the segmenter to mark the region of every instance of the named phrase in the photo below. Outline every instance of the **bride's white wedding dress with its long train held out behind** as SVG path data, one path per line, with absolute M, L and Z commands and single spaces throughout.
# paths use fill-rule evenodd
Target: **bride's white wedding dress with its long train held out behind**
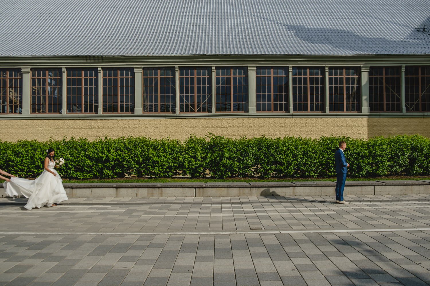
M 49 170 L 57 174 L 52 175 L 46 170 L 35 180 L 23 178 L 10 178 L 9 182 L 4 182 L 3 186 L 7 196 L 23 195 L 28 198 L 27 205 L 24 208 L 31 210 L 32 208 L 40 208 L 44 205 L 48 207 L 52 204 L 59 204 L 68 199 L 66 191 L 60 175 L 54 169 L 55 162 L 50 161 L 48 164 Z

